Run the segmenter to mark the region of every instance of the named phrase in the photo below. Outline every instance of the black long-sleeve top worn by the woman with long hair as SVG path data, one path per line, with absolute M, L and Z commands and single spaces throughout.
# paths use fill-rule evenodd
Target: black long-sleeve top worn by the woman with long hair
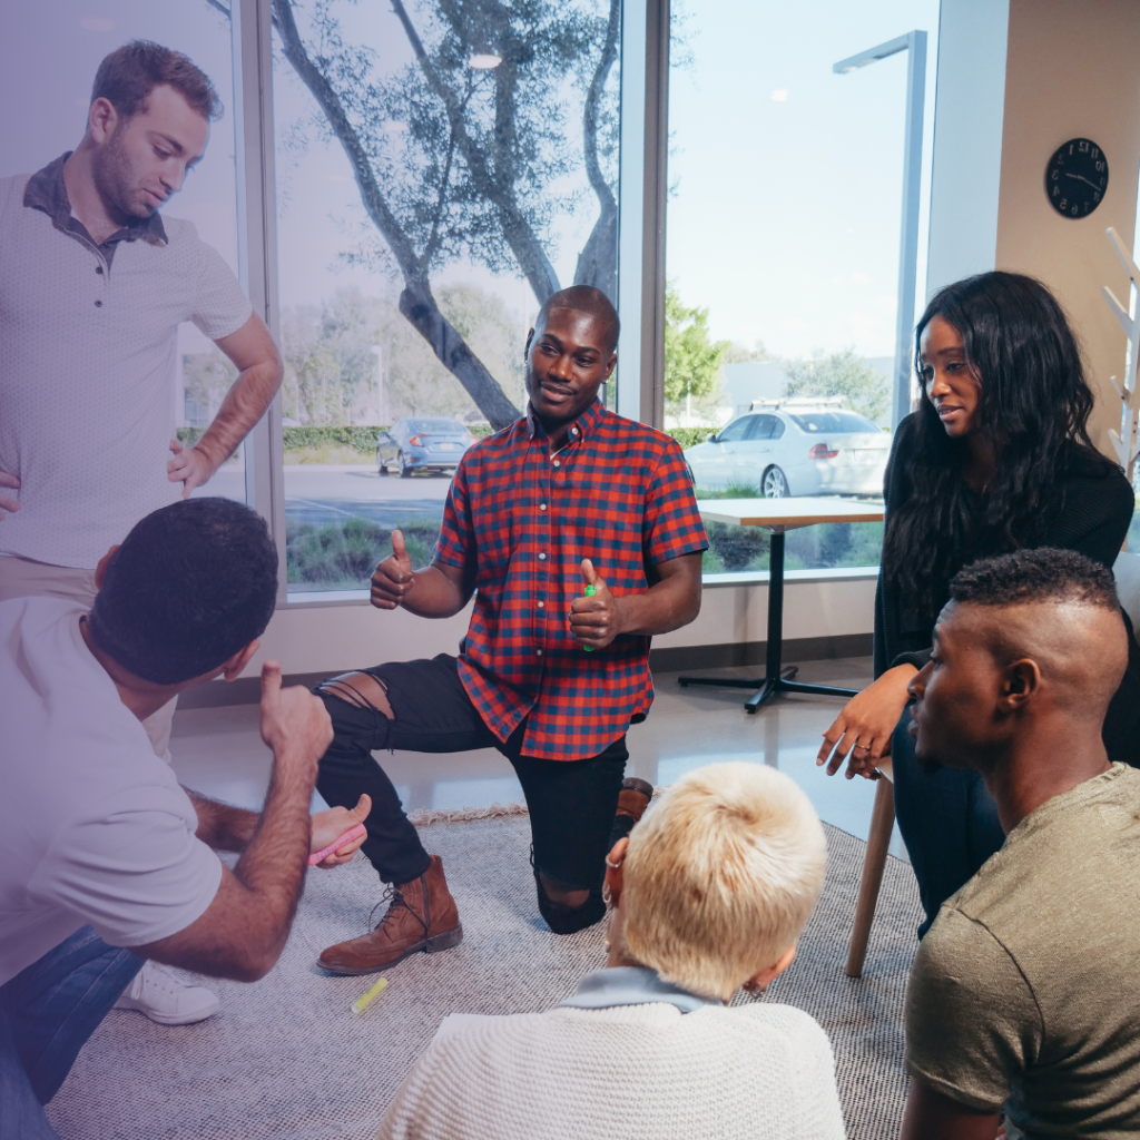
M 914 415 L 906 416 L 895 432 L 883 479 L 887 518 L 912 494 L 906 470 L 915 449 Z M 1132 487 L 1119 467 L 1105 462 L 1076 443 L 1066 456 L 1065 473 L 1057 484 L 1056 499 L 1045 507 L 1049 523 L 1037 545 L 1076 551 L 1113 568 L 1132 521 L 1135 504 Z M 982 499 L 977 497 L 980 510 Z M 980 553 L 966 552 L 946 579 L 939 583 L 938 608 L 922 612 L 915 601 L 903 596 L 897 583 L 879 570 L 874 595 L 874 675 L 910 662 L 921 668 L 930 656 L 935 622 L 950 597 L 950 579 Z M 1105 719 L 1105 746 L 1109 758 L 1140 767 L 1140 646 L 1132 624 L 1129 630 L 1129 667 Z

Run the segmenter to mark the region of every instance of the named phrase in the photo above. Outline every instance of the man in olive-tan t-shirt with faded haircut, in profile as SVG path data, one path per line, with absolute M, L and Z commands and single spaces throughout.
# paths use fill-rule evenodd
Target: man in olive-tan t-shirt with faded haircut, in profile
M 1140 1134 L 1140 772 L 1101 739 L 1127 662 L 1113 576 L 1066 551 L 951 583 L 911 682 L 915 756 L 982 773 L 1005 842 L 906 995 L 905 1140 Z

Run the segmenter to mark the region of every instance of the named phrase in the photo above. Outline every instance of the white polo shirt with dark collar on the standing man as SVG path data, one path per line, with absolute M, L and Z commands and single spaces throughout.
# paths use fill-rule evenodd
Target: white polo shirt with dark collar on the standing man
M 188 221 L 155 215 L 113 247 L 68 228 L 64 157 L 0 179 L 0 471 L 22 483 L 0 554 L 92 569 L 181 495 L 166 478 L 179 324 L 220 340 L 252 308 Z

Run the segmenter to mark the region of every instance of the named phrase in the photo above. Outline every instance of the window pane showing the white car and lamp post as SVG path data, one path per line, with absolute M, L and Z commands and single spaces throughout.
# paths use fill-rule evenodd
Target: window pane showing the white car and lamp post
M 686 447 L 701 498 L 881 496 L 907 57 L 832 65 L 915 28 L 928 34 L 927 169 L 937 0 L 703 0 L 675 19 L 666 427 L 799 405 L 781 402 L 771 438 L 732 455 Z M 709 530 L 707 572 L 766 569 L 763 530 Z M 881 532 L 789 532 L 787 564 L 877 565 Z

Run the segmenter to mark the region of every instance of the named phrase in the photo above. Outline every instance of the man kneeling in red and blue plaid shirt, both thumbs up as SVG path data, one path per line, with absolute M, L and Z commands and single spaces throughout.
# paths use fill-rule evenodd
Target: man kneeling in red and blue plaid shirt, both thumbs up
M 527 339 L 527 415 L 461 461 L 431 565 L 413 571 L 392 532 L 373 605 L 446 618 L 475 593 L 459 657 L 380 665 L 316 690 L 335 731 L 317 787 L 334 806 L 372 797 L 363 850 L 390 885 L 380 925 L 325 950 L 327 970 L 370 974 L 463 937 L 442 864 L 377 749 L 497 748 L 530 809 L 543 918 L 571 934 L 605 913 L 605 855 L 652 795 L 622 780 L 626 731 L 653 701 L 650 638 L 697 617 L 708 546 L 676 441 L 597 401 L 617 340 L 618 315 L 597 290 L 551 298 Z

